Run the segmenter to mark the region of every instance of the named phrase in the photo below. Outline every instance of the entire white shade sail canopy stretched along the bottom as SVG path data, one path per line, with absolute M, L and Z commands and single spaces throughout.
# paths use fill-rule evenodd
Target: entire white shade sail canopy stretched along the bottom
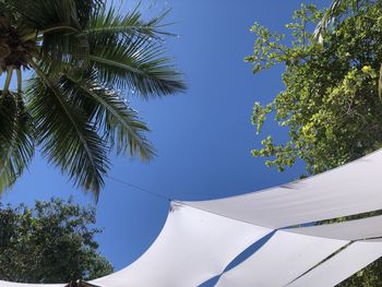
M 171 202 L 155 242 L 134 263 L 92 280 L 100 287 L 334 286 L 382 255 L 382 216 L 321 226 L 322 219 L 382 210 L 382 150 L 277 188 L 201 202 Z M 295 226 L 294 228 L 290 228 Z M 226 271 L 267 235 L 256 252 Z M 62 287 L 13 284 L 0 287 Z

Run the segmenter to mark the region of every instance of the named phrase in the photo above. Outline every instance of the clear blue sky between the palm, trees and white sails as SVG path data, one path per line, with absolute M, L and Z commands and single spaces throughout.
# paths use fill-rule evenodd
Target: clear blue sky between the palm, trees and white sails
M 146 1 L 146 2 L 145 2 Z M 144 0 L 142 8 L 150 3 Z M 116 1 L 118 2 L 118 1 Z M 310 1 L 319 7 L 329 0 Z M 189 89 L 183 95 L 132 100 L 153 132 L 150 139 L 158 156 L 150 164 L 115 158 L 110 175 L 177 200 L 206 200 L 260 190 L 296 179 L 299 165 L 284 174 L 251 157 L 260 146 L 250 117 L 253 103 L 272 99 L 282 88 L 282 68 L 254 76 L 243 58 L 251 53 L 254 21 L 285 31 L 298 0 L 171 0 L 156 1 L 150 13 L 172 8 L 167 22 L 180 38 L 167 46 L 184 72 Z M 2 79 L 0 80 L 0 84 Z M 263 136 L 286 132 L 267 124 Z M 5 193 L 3 202 L 32 204 L 34 200 L 73 195 L 93 204 L 91 195 L 73 189 L 68 178 L 37 154 L 29 171 Z M 139 258 L 155 240 L 165 222 L 168 202 L 106 180 L 97 207 L 100 251 L 120 270 Z

